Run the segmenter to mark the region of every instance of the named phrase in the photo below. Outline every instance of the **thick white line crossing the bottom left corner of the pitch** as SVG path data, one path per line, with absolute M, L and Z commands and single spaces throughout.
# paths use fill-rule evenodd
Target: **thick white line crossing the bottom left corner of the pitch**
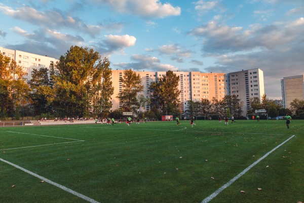
M 40 175 L 35 174 L 35 173 L 33 173 L 33 172 L 30 172 L 30 171 L 26 170 L 25 168 L 23 168 L 23 167 L 21 167 L 21 166 L 19 166 L 19 165 L 16 165 L 16 164 L 14 164 L 14 163 L 11 163 L 11 162 L 9 162 L 9 161 L 7 161 L 7 160 L 4 160 L 4 159 L 2 159 L 2 158 L 0 158 L 0 160 L 3 161 L 3 162 L 5 162 L 5 163 L 8 163 L 8 164 L 10 164 L 10 165 L 12 165 L 12 166 L 14 166 L 14 167 L 16 167 L 16 168 L 18 168 L 18 169 L 20 169 L 21 171 L 23 171 L 23 172 L 25 172 L 25 173 L 27 173 L 27 174 L 30 174 L 30 175 L 32 175 L 32 176 L 34 176 L 34 177 L 36 177 L 36 178 L 39 178 L 39 179 L 41 179 L 41 180 L 43 180 L 43 181 L 45 181 L 45 182 L 47 182 L 47 183 L 50 183 L 51 185 L 54 185 L 54 186 L 56 186 L 56 187 L 59 187 L 60 189 L 66 191 L 66 192 L 69 192 L 69 193 L 71 193 L 71 194 L 73 194 L 73 195 L 75 195 L 75 196 L 78 196 L 78 197 L 80 197 L 80 198 L 82 198 L 82 199 L 84 199 L 84 200 L 87 200 L 87 201 L 89 201 L 89 202 L 91 202 L 91 203 L 99 203 L 98 201 L 96 201 L 96 200 L 94 200 L 94 199 L 92 199 L 92 198 L 90 198 L 90 197 L 87 197 L 87 196 L 85 196 L 85 195 L 83 195 L 83 194 L 81 194 L 81 193 L 75 192 L 74 190 L 71 190 L 71 189 L 69 189 L 69 188 L 67 188 L 67 187 L 64 187 L 63 185 L 60 185 L 60 184 L 58 184 L 58 183 L 55 183 L 55 182 L 53 182 L 53 181 L 51 181 L 51 180 L 49 180 L 49 179 L 47 179 L 47 178 L 45 178 L 45 177 L 43 177 L 43 176 L 40 176 Z

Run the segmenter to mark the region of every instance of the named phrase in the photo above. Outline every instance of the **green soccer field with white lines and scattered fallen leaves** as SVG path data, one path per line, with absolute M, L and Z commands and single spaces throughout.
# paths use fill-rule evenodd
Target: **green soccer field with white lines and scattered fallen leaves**
M 0 202 L 304 201 L 304 121 L 180 123 L 1 127 Z

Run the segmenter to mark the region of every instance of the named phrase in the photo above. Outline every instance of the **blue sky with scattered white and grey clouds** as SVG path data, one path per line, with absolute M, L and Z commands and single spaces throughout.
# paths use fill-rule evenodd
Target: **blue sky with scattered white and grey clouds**
M 0 46 L 59 58 L 71 46 L 112 70 L 259 68 L 265 94 L 304 74 L 303 0 L 0 0 Z

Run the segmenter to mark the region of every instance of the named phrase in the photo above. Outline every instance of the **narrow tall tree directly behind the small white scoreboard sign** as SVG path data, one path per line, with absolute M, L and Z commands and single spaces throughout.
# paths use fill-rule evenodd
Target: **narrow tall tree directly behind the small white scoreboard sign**
M 136 107 L 139 106 L 137 94 L 143 90 L 141 78 L 134 71 L 125 70 L 124 76 L 119 80 L 122 83 L 122 92 L 117 96 L 123 109 L 127 112 L 136 112 Z

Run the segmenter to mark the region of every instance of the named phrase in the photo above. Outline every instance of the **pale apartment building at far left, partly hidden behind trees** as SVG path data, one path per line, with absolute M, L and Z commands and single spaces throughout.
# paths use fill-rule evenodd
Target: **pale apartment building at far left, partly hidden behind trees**
M 7 49 L 4 47 L 0 47 L 0 52 L 4 56 L 9 56 L 10 58 L 14 59 L 17 65 L 23 67 L 23 70 L 26 72 L 26 75 L 24 76 L 26 80 L 31 79 L 31 72 L 33 69 L 39 70 L 41 67 L 49 67 L 52 62 L 57 62 L 56 58 Z

